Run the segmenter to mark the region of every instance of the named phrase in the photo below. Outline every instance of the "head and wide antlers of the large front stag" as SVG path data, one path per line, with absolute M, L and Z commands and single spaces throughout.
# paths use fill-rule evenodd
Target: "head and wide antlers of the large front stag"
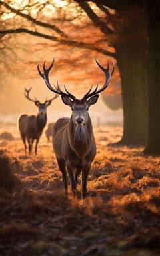
M 65 85 L 64 85 L 65 91 L 61 91 L 58 82 L 57 82 L 57 87 L 53 88 L 51 86 L 51 83 L 49 82 L 49 71 L 53 67 L 54 61 L 55 59 L 53 59 L 53 62 L 51 63 L 48 69 L 45 68 L 46 61 L 44 62 L 43 73 L 41 73 L 39 69 L 39 64 L 38 64 L 37 69 L 39 71 L 39 75 L 41 75 L 41 77 L 45 80 L 47 87 L 51 91 L 53 91 L 53 93 L 57 93 L 61 95 L 61 99 L 63 103 L 71 107 L 71 110 L 72 110 L 71 118 L 73 119 L 73 123 L 75 123 L 75 125 L 85 125 L 87 123 L 88 116 L 89 116 L 88 115 L 89 107 L 97 102 L 99 98 L 99 93 L 101 93 L 107 88 L 109 80 L 111 79 L 111 76 L 114 73 L 115 64 L 113 62 L 113 69 L 111 73 L 109 73 L 109 62 L 108 62 L 108 67 L 105 69 L 97 62 L 97 60 L 95 60 L 97 65 L 100 67 L 100 69 L 102 69 L 102 71 L 105 73 L 105 83 L 103 87 L 101 87 L 101 89 L 98 89 L 99 84 L 97 83 L 97 86 L 92 92 L 91 92 L 92 90 L 92 86 L 91 86 L 89 91 L 83 96 L 82 99 L 76 99 L 76 97 L 67 90 Z

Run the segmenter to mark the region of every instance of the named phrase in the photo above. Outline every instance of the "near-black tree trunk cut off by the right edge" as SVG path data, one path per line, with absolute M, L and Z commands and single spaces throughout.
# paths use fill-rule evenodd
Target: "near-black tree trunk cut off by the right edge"
M 149 15 L 149 134 L 145 153 L 160 153 L 160 3 L 147 1 Z

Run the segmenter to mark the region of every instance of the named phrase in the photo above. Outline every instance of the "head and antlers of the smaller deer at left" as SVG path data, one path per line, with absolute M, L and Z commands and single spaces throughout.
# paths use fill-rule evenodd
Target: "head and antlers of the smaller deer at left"
M 29 97 L 29 93 L 30 93 L 30 91 L 31 91 L 31 89 L 32 89 L 32 87 L 30 88 L 30 89 L 26 89 L 25 88 L 25 97 L 27 98 L 27 99 L 29 99 L 29 101 L 32 101 L 32 102 L 34 102 L 35 103 L 35 105 L 38 107 L 38 109 L 39 109 L 39 116 L 40 117 L 44 117 L 45 115 L 46 115 L 46 110 L 47 110 L 47 107 L 49 106 L 49 105 L 51 105 L 51 102 L 54 100 L 54 99 L 56 99 L 59 95 L 55 95 L 55 97 L 53 97 L 52 99 L 46 99 L 46 101 L 44 102 L 44 103 L 40 103 L 40 101 L 38 101 L 36 98 L 35 98 L 35 100 L 34 99 L 31 99 L 30 97 Z

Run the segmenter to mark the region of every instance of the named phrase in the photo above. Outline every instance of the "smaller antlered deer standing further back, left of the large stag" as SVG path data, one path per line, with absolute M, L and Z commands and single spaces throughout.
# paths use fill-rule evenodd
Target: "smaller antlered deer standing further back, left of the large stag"
M 21 115 L 21 117 L 19 117 L 18 123 L 19 123 L 19 131 L 21 133 L 21 138 L 25 145 L 25 153 L 27 151 L 26 139 L 29 145 L 29 154 L 31 154 L 32 145 L 34 140 L 36 139 L 36 144 L 35 144 L 35 154 L 36 154 L 39 139 L 43 132 L 43 128 L 45 127 L 47 122 L 47 112 L 46 112 L 47 107 L 51 105 L 51 101 L 53 101 L 53 99 L 56 99 L 58 95 L 56 94 L 55 97 L 53 97 L 53 99 L 49 99 L 49 100 L 46 99 L 45 103 L 40 103 L 37 99 L 33 100 L 29 97 L 30 91 L 31 91 L 31 88 L 29 90 L 25 88 L 25 97 L 29 99 L 29 101 L 33 101 L 35 103 L 35 105 L 39 109 L 39 112 L 37 116 Z

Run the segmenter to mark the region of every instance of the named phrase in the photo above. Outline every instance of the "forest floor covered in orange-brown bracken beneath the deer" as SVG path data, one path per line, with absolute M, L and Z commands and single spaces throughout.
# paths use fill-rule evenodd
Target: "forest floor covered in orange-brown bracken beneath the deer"
M 0 129 L 0 133 L 4 131 Z M 160 255 L 160 158 L 142 147 L 111 147 L 122 128 L 95 128 L 97 155 L 87 199 L 63 195 L 61 173 L 45 133 L 38 153 L 25 155 L 14 140 L 0 140 L 1 256 Z

